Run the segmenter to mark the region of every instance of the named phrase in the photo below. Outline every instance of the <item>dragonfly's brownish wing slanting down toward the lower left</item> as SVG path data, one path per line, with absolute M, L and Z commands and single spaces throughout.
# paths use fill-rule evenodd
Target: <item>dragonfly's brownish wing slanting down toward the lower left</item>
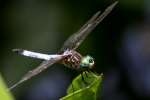
M 45 69 L 47 69 L 48 67 L 53 65 L 54 63 L 59 62 L 60 60 L 62 60 L 64 57 L 67 57 L 67 56 L 68 55 L 62 55 L 62 56 L 59 56 L 59 57 L 52 58 L 52 59 L 50 59 L 48 61 L 43 61 L 43 63 L 41 63 L 37 68 L 29 71 L 24 77 L 22 77 L 22 79 L 19 82 L 17 82 L 13 86 L 11 86 L 9 88 L 9 90 L 12 90 L 13 88 L 18 86 L 19 84 L 29 80 L 30 78 L 32 78 L 35 75 L 41 73 L 42 71 L 44 71 Z

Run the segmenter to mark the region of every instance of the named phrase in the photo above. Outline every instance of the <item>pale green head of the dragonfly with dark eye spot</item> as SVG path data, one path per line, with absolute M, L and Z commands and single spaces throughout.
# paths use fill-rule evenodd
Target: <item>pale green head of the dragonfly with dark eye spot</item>
M 94 66 L 94 58 L 87 55 L 81 59 L 80 67 L 85 69 L 92 69 Z

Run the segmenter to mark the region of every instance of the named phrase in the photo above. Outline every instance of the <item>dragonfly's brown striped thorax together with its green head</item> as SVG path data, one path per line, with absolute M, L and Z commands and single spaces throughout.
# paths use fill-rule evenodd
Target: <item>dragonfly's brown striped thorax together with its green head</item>
M 70 50 L 65 53 L 70 53 L 62 63 L 75 70 L 87 70 L 92 69 L 94 66 L 94 59 L 91 56 L 82 56 L 80 53 Z

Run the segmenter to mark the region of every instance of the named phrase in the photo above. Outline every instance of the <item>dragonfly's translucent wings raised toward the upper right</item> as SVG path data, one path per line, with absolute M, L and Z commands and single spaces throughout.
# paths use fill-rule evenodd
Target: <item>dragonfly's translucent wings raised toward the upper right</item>
M 111 4 L 106 10 L 100 15 L 98 11 L 89 21 L 87 21 L 79 31 L 71 35 L 68 40 L 65 41 L 64 45 L 60 49 L 63 52 L 67 49 L 76 49 L 88 36 L 88 34 L 112 11 L 118 1 Z

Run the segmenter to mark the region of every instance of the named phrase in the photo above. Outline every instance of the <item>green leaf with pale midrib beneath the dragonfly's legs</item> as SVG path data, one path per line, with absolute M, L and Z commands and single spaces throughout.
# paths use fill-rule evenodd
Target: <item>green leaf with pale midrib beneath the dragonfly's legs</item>
M 82 75 L 77 76 L 69 86 L 67 96 L 60 100 L 96 100 L 101 90 L 102 75 L 85 72 L 83 78 Z

